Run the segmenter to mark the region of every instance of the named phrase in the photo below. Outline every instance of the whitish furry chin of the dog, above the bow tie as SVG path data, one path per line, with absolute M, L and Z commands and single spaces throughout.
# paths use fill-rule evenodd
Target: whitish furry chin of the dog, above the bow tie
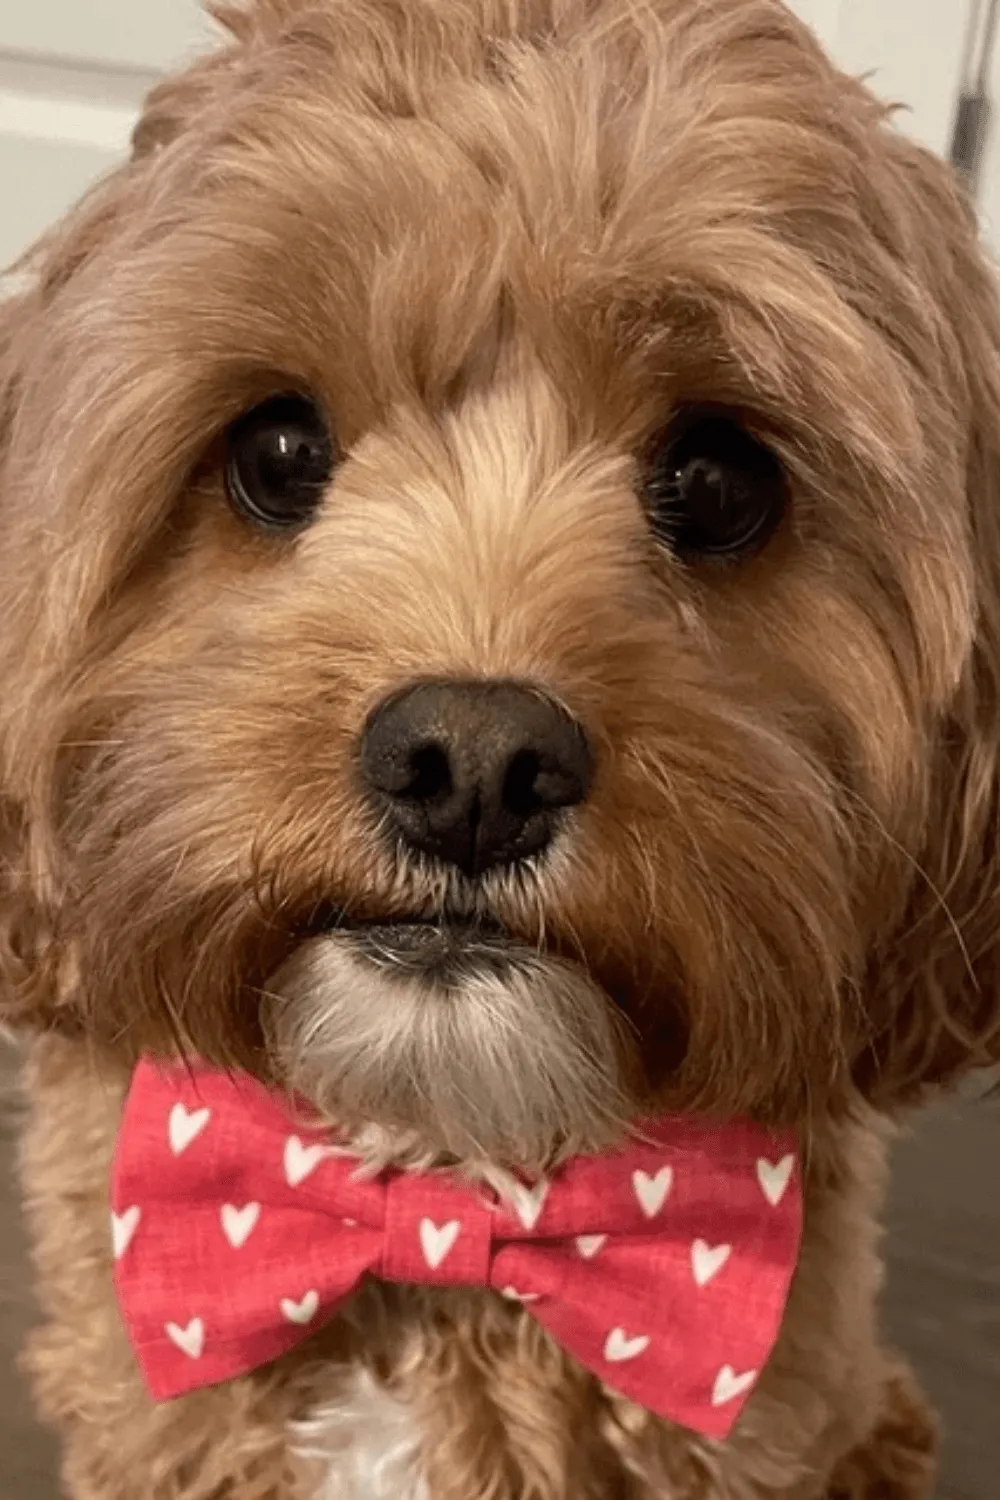
M 271 981 L 267 1023 L 288 1086 L 378 1164 L 541 1172 L 636 1113 L 609 996 L 480 926 L 310 938 Z

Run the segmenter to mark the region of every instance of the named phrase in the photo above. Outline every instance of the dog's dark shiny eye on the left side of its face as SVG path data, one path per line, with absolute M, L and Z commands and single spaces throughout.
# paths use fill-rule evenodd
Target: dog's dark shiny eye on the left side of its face
M 309 522 L 330 483 L 334 441 L 315 402 L 283 394 L 252 406 L 226 435 L 226 490 L 268 531 Z

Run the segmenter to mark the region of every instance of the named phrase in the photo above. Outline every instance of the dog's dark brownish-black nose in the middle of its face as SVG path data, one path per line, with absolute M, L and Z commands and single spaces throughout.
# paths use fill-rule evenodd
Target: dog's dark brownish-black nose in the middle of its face
M 379 708 L 361 771 L 397 834 L 466 874 L 550 843 L 561 808 L 588 794 L 580 724 L 517 682 L 420 682 Z

